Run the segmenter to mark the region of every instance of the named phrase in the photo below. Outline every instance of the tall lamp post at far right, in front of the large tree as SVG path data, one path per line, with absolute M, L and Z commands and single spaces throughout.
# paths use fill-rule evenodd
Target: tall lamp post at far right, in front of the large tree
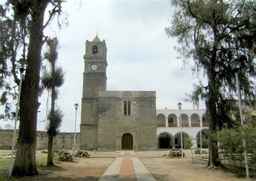
M 237 94 L 238 94 L 238 102 L 239 102 L 239 112 L 240 112 L 240 119 L 241 119 L 242 135 L 244 136 L 244 119 L 242 118 L 242 101 L 241 101 L 239 79 L 238 79 L 238 70 L 241 66 L 241 62 L 238 59 L 234 59 L 233 61 L 230 62 L 230 66 L 235 72 L 235 81 L 237 82 Z M 246 178 L 250 178 L 245 138 L 242 138 L 242 142 L 244 144 Z

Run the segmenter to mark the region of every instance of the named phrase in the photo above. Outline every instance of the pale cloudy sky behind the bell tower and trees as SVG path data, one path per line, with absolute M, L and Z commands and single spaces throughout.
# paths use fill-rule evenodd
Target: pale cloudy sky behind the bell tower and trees
M 65 71 L 57 99 L 64 113 L 60 131 L 74 131 L 74 105 L 78 103 L 79 132 L 85 41 L 91 41 L 97 33 L 107 46 L 107 91 L 156 91 L 157 109 L 178 109 L 178 102 L 183 103 L 182 109 L 193 109 L 192 103 L 184 99 L 192 91 L 192 83 L 198 82 L 198 76 L 191 71 L 192 62 L 184 66 L 177 58 L 177 41 L 165 33 L 174 10 L 168 0 L 70 0 L 63 3 L 63 10 L 68 14 L 69 25 L 59 30 L 55 19 L 44 32 L 58 38 L 57 64 Z M 39 99 L 37 130 L 45 129 L 47 98 L 45 92 Z M 204 103 L 199 108 L 204 109 Z M 0 126 L 4 128 L 4 124 L 1 122 Z

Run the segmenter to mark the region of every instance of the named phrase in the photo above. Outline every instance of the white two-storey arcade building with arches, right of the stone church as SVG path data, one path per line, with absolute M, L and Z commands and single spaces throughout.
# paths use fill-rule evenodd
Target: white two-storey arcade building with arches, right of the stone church
M 179 109 L 157 109 L 158 148 L 181 148 L 180 113 L 183 147 L 186 148 L 185 138 L 192 136 L 195 138 L 192 148 L 204 148 L 204 138 L 209 134 L 205 109 L 181 109 L 181 112 Z

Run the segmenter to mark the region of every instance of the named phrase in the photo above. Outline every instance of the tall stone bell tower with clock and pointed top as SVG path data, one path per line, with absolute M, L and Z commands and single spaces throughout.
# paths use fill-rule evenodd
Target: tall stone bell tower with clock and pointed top
M 83 95 L 81 104 L 80 148 L 96 149 L 98 142 L 98 93 L 106 91 L 106 43 L 96 36 L 86 40 Z

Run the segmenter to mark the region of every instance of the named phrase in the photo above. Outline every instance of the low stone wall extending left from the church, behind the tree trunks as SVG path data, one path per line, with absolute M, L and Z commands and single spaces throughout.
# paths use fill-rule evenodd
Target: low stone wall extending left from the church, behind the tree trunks
M 0 149 L 11 149 L 12 135 L 14 130 L 0 130 Z M 18 138 L 18 130 L 16 131 L 16 140 Z M 76 148 L 79 148 L 80 134 L 76 133 Z M 74 145 L 74 133 L 59 133 L 53 139 L 53 148 L 72 149 Z M 48 134 L 46 131 L 37 131 L 36 140 L 37 149 L 45 149 L 48 147 Z

